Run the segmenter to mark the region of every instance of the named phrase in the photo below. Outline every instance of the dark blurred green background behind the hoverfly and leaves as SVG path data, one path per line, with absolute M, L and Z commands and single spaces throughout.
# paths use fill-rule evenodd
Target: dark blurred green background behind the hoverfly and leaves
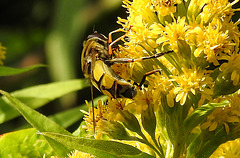
M 22 68 L 46 64 L 21 75 L 0 78 L 0 89 L 13 92 L 55 81 L 83 78 L 83 41 L 93 30 L 108 35 L 119 27 L 117 17 L 126 18 L 121 0 L 1 0 L 0 42 L 7 47 L 4 65 Z M 95 90 L 95 96 L 100 95 Z M 70 94 L 38 109 L 44 115 L 90 100 L 90 88 Z M 1 105 L 0 105 L 1 106 Z M 0 125 L 0 134 L 25 124 L 22 117 Z M 79 122 L 69 127 L 73 131 Z

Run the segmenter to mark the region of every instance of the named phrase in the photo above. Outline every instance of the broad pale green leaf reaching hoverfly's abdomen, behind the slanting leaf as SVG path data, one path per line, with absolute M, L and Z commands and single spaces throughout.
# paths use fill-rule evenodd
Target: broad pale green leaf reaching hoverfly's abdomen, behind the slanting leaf
M 36 109 L 56 98 L 81 90 L 87 86 L 86 80 L 77 79 L 33 86 L 15 91 L 11 95 L 29 107 Z M 9 103 L 3 97 L 0 97 L 0 105 L 0 124 L 20 115 L 14 108 L 9 106 Z

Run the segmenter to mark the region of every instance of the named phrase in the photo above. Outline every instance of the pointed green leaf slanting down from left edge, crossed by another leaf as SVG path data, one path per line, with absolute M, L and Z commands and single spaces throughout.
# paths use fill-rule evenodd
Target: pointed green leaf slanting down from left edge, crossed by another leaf
M 12 106 L 22 114 L 22 116 L 28 121 L 28 123 L 30 123 L 34 128 L 36 128 L 40 132 L 58 132 L 71 135 L 71 133 L 66 131 L 60 125 L 50 120 L 46 116 L 40 114 L 39 112 L 26 106 L 18 99 L 11 96 L 9 93 L 2 90 L 0 90 L 0 93 L 2 93 L 11 102 Z M 66 149 L 62 144 L 59 144 L 52 139 L 47 138 L 47 141 L 59 156 L 66 156 L 70 151 Z

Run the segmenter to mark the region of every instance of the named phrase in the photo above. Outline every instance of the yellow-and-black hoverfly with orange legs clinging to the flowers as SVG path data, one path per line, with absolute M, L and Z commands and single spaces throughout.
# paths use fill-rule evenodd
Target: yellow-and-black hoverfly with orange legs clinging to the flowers
M 91 92 L 93 90 L 92 87 L 94 86 L 100 92 L 112 98 L 133 98 L 137 93 L 135 86 L 121 78 L 119 75 L 117 75 L 111 69 L 111 65 L 131 63 L 151 58 L 158 58 L 164 54 L 173 52 L 168 51 L 164 53 L 157 53 L 153 56 L 147 56 L 138 59 L 114 58 L 112 54 L 112 45 L 117 41 L 123 39 L 125 35 L 121 36 L 120 38 L 112 42 L 112 33 L 120 32 L 122 30 L 123 29 L 118 29 L 113 32 L 110 32 L 108 38 L 103 34 L 95 32 L 93 34 L 90 34 L 87 37 L 87 40 L 84 41 L 81 64 L 84 76 L 90 79 L 91 81 Z M 138 86 L 141 87 L 141 85 L 145 81 L 146 76 L 153 74 L 157 71 L 158 70 L 153 70 L 145 74 Z M 94 109 L 94 107 L 92 109 Z M 93 126 L 95 128 L 94 110 L 93 110 Z

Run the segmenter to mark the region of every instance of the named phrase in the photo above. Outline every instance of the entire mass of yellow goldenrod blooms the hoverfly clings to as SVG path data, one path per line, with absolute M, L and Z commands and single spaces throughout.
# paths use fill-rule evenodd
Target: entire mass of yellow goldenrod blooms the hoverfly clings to
M 109 98 L 106 105 L 99 102 L 94 109 L 95 136 L 109 134 L 132 139 L 137 133 L 138 137 L 147 139 L 148 146 L 154 144 L 153 150 L 161 155 L 155 136 L 166 136 L 163 136 L 166 127 L 161 129 L 165 118 L 159 117 L 164 110 L 168 115 L 179 114 L 181 119 L 184 114 L 174 110 L 185 108 L 185 114 L 189 115 L 204 104 L 223 100 L 229 101 L 229 105 L 213 111 L 201 127 L 214 131 L 224 126 L 229 133 L 230 126 L 240 122 L 240 20 L 232 21 L 234 12 L 240 10 L 232 8 L 237 2 L 123 0 L 129 16 L 118 18 L 118 23 L 127 30 L 128 40 L 123 40 L 124 45 L 114 52 L 115 56 L 136 59 L 173 52 L 157 59 L 112 66 L 116 74 L 132 83 L 140 83 L 144 74 L 157 71 L 146 76 L 144 86 L 137 88 L 133 99 Z M 85 113 L 85 121 L 86 128 L 93 131 L 91 110 Z M 122 127 L 126 128 L 124 132 L 120 131 Z M 120 134 L 114 135 L 114 130 Z

